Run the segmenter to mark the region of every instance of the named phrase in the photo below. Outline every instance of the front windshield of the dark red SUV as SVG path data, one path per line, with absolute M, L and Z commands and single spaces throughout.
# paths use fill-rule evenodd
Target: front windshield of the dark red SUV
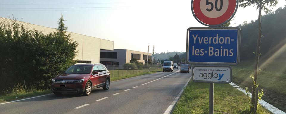
M 91 67 L 92 66 L 73 65 L 73 66 L 70 66 L 69 69 L 67 69 L 65 73 L 69 73 L 69 74 L 89 74 L 91 72 Z

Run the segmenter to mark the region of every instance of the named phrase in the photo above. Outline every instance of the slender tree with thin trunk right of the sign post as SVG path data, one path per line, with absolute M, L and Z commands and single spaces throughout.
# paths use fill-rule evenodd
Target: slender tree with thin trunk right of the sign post
M 257 38 L 257 46 L 255 52 L 255 66 L 254 66 L 254 79 L 253 79 L 253 88 L 252 88 L 252 96 L 251 96 L 251 112 L 255 113 L 254 111 L 254 103 L 255 103 L 255 90 L 257 87 L 257 68 L 258 68 L 258 60 L 259 60 L 259 50 L 260 50 L 260 42 L 261 42 L 261 12 L 264 10 L 268 13 L 269 7 L 275 7 L 278 3 L 277 0 L 239 0 L 240 7 L 247 7 L 247 6 L 257 6 L 256 8 L 259 9 L 258 13 L 258 38 Z

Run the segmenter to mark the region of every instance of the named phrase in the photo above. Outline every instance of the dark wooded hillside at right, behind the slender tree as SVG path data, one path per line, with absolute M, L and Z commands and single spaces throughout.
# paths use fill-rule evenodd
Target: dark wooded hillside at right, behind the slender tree
M 260 58 L 269 58 L 275 52 L 278 52 L 276 58 L 285 58 L 285 47 L 286 44 L 286 6 L 279 8 L 276 11 L 270 11 L 261 17 L 262 21 L 262 39 Z M 256 42 L 257 42 L 257 24 L 258 21 L 251 21 L 240 24 L 241 28 L 241 46 L 240 46 L 240 59 L 254 59 Z

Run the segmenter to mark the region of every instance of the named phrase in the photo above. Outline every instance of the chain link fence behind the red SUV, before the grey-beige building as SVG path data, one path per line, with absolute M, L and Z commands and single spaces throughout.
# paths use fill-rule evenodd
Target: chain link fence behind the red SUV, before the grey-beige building
M 162 70 L 161 64 L 124 64 L 124 65 L 105 65 L 111 77 L 121 77 L 125 75 L 147 73 Z

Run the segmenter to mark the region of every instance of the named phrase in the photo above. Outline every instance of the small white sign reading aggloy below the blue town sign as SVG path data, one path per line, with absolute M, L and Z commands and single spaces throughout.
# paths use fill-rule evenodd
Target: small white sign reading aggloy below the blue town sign
M 230 66 L 193 66 L 192 80 L 202 83 L 231 83 Z

